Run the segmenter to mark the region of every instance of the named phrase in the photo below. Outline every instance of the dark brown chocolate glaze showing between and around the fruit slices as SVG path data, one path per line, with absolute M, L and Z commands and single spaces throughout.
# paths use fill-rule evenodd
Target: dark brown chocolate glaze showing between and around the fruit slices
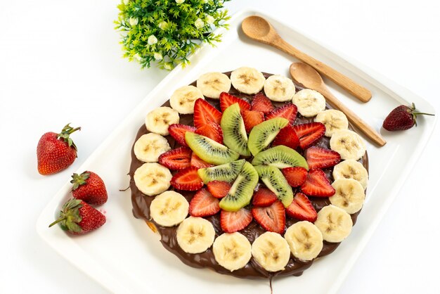
M 226 72 L 226 75 L 231 75 L 231 72 Z M 270 76 L 270 74 L 264 73 L 264 76 L 267 78 Z M 193 85 L 195 85 L 195 82 L 193 82 Z M 300 85 L 295 84 L 295 87 L 297 88 L 297 91 L 303 89 Z M 229 91 L 234 96 L 238 96 L 240 98 L 244 98 L 247 101 L 250 101 L 252 99 L 252 96 L 241 94 L 233 87 L 231 87 L 231 91 Z M 214 107 L 220 109 L 219 106 L 219 100 L 218 99 L 211 99 L 207 98 L 207 101 L 211 103 Z M 274 106 L 282 106 L 284 103 L 276 103 L 273 102 Z M 162 106 L 169 106 L 169 101 L 165 102 Z M 327 108 L 331 108 L 331 106 L 327 105 Z M 302 124 L 306 122 L 312 122 L 313 117 L 306 118 L 302 117 L 299 113 L 297 115 L 297 119 L 295 120 L 295 124 Z M 180 122 L 181 124 L 188 124 L 193 125 L 193 115 L 180 115 Z M 351 125 L 349 126 L 350 129 L 353 129 Z M 142 136 L 143 134 L 147 134 L 148 130 L 145 127 L 145 124 L 141 126 L 141 128 L 138 130 L 138 134 L 136 135 L 136 139 L 134 142 L 137 141 L 137 139 Z M 172 136 L 165 136 L 165 138 L 169 142 L 169 146 L 171 148 L 177 148 L 179 147 L 179 143 L 176 143 L 174 138 Z M 318 141 L 318 143 L 315 144 L 316 146 L 321 146 L 323 148 L 330 148 L 330 138 L 323 136 L 323 138 Z M 300 153 L 302 151 L 298 150 Z M 368 155 L 365 153 L 363 158 L 359 160 L 363 166 L 368 170 Z M 236 276 L 239 278 L 245 278 L 245 279 L 272 279 L 273 276 L 300 276 L 302 275 L 302 272 L 305 269 L 308 269 L 311 267 L 311 264 L 313 261 L 309 262 L 303 262 L 301 260 L 297 260 L 297 258 L 293 257 L 293 255 L 290 255 L 290 260 L 287 263 L 287 266 L 283 271 L 277 271 L 275 273 L 266 271 L 263 269 L 252 257 L 250 262 L 243 267 L 242 269 L 238 269 L 236 271 L 229 271 L 228 269 L 225 269 L 224 267 L 221 267 L 215 260 L 214 254 L 212 253 L 212 248 L 209 248 L 204 253 L 198 253 L 198 254 L 188 254 L 185 253 L 183 250 L 181 250 L 179 244 L 177 243 L 176 239 L 176 229 L 177 226 L 172 227 L 164 227 L 160 226 L 159 224 L 155 223 L 154 220 L 150 217 L 150 203 L 153 201 L 154 197 L 145 196 L 141 191 L 138 190 L 136 187 L 136 184 L 134 183 L 134 172 L 143 165 L 144 162 L 141 162 L 136 158 L 136 155 L 134 155 L 134 150 L 131 148 L 131 165 L 130 165 L 130 188 L 131 188 L 131 202 L 133 204 L 133 215 L 134 217 L 138 219 L 145 219 L 147 224 L 149 224 L 150 227 L 153 225 L 153 231 L 154 229 L 157 229 L 157 232 L 162 236 L 161 243 L 164 246 L 164 248 L 167 248 L 171 253 L 179 257 L 179 259 L 189 265 L 190 267 L 196 267 L 196 268 L 210 268 L 214 269 L 214 271 L 219 272 L 220 274 L 228 274 L 231 276 Z M 333 181 L 332 178 L 332 168 L 328 168 L 324 170 L 325 174 L 327 175 L 328 179 L 330 181 Z M 175 173 L 175 172 L 173 172 Z M 257 186 L 258 188 L 258 186 Z M 257 189 L 256 188 L 256 189 Z M 169 190 L 174 190 L 172 186 L 170 186 Z M 298 188 L 293 188 L 294 193 L 298 190 Z M 178 191 L 181 193 L 188 202 L 191 198 L 193 198 L 193 195 L 195 192 L 191 191 Z M 313 203 L 313 206 L 315 207 L 316 211 L 321 210 L 322 207 L 326 205 L 330 205 L 330 201 L 328 198 L 321 198 L 321 197 L 309 197 L 311 200 L 311 203 Z M 247 207 L 250 208 L 250 207 Z M 358 217 L 359 212 L 356 212 L 354 215 L 351 215 L 351 219 L 353 220 L 353 224 L 356 223 L 356 218 Z M 207 217 L 206 219 L 209 220 L 209 222 L 212 222 L 214 229 L 216 231 L 216 237 L 223 234 L 223 231 L 221 230 L 220 226 L 220 214 L 214 215 L 212 217 Z M 292 219 L 288 216 L 286 216 L 286 228 L 291 226 L 292 224 L 295 224 L 297 220 Z M 265 230 L 261 228 L 261 226 L 252 220 L 249 226 L 247 226 L 245 229 L 240 231 L 241 234 L 245 235 L 250 243 L 253 243 L 255 238 L 257 238 L 259 235 L 263 234 Z M 328 255 L 332 253 L 337 246 L 339 246 L 340 243 L 329 243 L 324 241 L 323 250 L 321 250 L 321 253 L 318 255 L 318 257 L 323 257 L 325 255 Z

